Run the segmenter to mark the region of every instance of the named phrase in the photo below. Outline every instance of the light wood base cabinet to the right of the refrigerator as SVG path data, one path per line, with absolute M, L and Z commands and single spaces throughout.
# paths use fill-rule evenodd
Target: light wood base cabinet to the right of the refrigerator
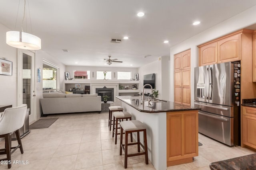
M 242 106 L 242 140 L 241 146 L 256 149 L 256 108 Z

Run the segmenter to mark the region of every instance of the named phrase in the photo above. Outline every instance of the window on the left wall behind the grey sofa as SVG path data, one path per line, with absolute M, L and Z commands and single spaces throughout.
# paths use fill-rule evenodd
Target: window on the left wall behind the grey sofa
M 57 89 L 57 68 L 43 64 L 43 91 Z

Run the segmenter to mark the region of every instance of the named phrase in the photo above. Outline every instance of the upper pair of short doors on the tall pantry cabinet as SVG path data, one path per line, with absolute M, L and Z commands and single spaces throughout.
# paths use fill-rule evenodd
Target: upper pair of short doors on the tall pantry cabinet
M 190 49 L 174 55 L 174 70 L 190 68 Z

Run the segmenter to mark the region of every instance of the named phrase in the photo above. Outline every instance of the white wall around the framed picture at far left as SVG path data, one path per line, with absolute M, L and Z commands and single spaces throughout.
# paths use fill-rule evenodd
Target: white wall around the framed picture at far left
M 12 76 L 0 75 L 0 105 L 17 106 L 17 50 L 6 44 L 6 32 L 10 31 L 0 23 L 0 59 L 12 61 Z

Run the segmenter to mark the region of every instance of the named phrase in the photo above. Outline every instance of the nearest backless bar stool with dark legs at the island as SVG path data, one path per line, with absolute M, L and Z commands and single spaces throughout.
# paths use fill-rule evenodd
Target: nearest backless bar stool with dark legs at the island
M 138 156 L 145 154 L 145 162 L 148 164 L 148 146 L 147 146 L 147 134 L 146 126 L 138 120 L 122 121 L 120 122 L 120 155 L 124 150 L 124 168 L 127 168 L 127 158 L 130 156 Z M 125 144 L 123 145 L 123 131 L 125 131 Z M 140 143 L 140 131 L 144 134 L 144 146 Z M 137 142 L 128 144 L 128 133 L 137 132 Z M 137 145 L 138 152 L 135 154 L 128 154 L 128 145 Z M 144 152 L 140 152 L 140 146 L 144 149 Z

